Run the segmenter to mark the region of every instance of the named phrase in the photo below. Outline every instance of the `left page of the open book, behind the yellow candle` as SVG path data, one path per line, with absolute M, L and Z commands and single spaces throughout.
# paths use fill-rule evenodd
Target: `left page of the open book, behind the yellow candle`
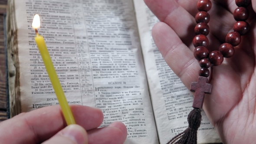
M 59 104 L 34 41 L 38 13 L 68 103 L 100 108 L 100 127 L 123 122 L 127 144 L 158 144 L 132 0 L 15 0 L 15 8 L 22 112 Z

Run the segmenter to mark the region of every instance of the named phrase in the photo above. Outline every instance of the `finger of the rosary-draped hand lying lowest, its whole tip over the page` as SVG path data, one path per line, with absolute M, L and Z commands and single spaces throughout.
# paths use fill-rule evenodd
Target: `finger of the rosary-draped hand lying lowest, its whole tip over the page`
M 152 29 L 152 36 L 166 63 L 189 87 L 192 81 L 197 80 L 200 69 L 193 52 L 166 23 L 157 23 Z

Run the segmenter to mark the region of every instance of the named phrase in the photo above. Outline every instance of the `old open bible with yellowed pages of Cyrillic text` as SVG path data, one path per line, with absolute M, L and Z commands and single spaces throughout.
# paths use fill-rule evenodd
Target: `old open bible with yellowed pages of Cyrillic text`
M 143 0 L 9 0 L 11 117 L 58 105 L 34 41 L 35 14 L 69 104 L 100 108 L 100 127 L 123 122 L 126 144 L 165 144 L 187 128 L 193 95 L 154 45 L 158 19 Z M 221 142 L 204 113 L 197 142 Z

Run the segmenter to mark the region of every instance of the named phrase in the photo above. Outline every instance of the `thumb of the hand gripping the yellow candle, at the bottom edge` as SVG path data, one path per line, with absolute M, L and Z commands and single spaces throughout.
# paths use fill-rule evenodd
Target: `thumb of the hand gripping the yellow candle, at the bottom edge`
M 88 144 L 88 136 L 84 128 L 71 124 L 43 144 Z

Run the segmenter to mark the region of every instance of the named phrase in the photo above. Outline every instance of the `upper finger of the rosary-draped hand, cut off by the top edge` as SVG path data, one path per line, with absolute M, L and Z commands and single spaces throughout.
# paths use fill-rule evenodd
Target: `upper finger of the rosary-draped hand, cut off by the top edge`
M 167 23 L 174 32 L 180 37 L 181 41 L 190 49 L 194 49 L 192 45 L 195 36 L 194 27 L 196 22 L 194 16 L 190 15 L 175 0 L 144 0 L 151 11 L 164 23 Z M 220 42 L 211 34 L 208 36 L 209 47 L 218 49 Z

